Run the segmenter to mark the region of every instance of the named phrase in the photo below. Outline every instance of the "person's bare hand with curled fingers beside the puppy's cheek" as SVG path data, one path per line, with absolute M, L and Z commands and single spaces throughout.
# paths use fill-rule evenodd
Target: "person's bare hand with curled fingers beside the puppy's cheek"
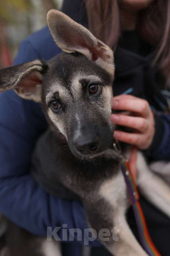
M 133 133 L 115 130 L 114 138 L 147 149 L 155 134 L 154 116 L 148 102 L 132 95 L 119 95 L 113 97 L 112 109 L 130 112 L 131 115 L 112 114 L 111 121 L 134 129 Z

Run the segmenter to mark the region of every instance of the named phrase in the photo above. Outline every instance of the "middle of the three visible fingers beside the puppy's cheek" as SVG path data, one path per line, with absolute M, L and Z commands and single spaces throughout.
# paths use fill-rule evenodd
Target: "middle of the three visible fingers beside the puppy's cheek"
M 132 117 L 127 115 L 111 115 L 111 121 L 114 124 L 131 127 L 140 132 L 145 132 L 148 129 L 149 123 L 147 119 L 142 117 Z

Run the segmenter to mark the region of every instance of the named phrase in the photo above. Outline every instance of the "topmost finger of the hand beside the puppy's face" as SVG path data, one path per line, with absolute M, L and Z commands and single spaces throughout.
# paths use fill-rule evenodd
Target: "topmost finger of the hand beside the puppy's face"
M 131 95 L 120 95 L 113 97 L 112 109 L 136 112 L 140 116 L 147 117 L 150 107 L 148 102 L 143 99 Z

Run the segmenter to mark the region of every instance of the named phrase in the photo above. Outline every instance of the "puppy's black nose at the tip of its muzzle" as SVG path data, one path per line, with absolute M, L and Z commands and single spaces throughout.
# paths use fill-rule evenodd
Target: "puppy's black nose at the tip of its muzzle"
M 74 141 L 75 147 L 77 151 L 81 154 L 88 155 L 91 154 L 93 151 L 97 150 L 98 148 L 98 141 L 93 139 L 90 141 L 83 140 L 83 139 L 76 139 Z

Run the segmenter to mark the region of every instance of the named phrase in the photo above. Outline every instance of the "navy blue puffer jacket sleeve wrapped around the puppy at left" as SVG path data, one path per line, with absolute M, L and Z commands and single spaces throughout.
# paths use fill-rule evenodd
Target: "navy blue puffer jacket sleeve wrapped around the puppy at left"
M 25 40 L 15 64 L 36 58 L 38 53 Z M 29 174 L 33 147 L 46 127 L 39 104 L 20 98 L 14 91 L 0 94 L 0 212 L 41 236 L 47 235 L 47 227 L 53 230 L 64 223 L 68 229 L 83 230 L 87 224 L 82 204 L 48 195 Z

